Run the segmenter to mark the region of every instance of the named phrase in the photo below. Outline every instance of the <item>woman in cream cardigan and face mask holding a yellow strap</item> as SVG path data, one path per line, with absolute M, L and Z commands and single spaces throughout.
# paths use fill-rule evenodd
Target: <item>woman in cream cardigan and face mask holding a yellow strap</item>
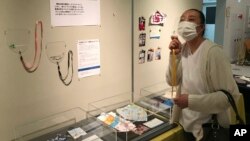
M 170 65 L 166 73 L 172 85 L 172 55 L 176 55 L 178 85 L 174 98 L 172 122 L 180 122 L 188 140 L 203 138 L 202 124 L 211 122 L 217 114 L 221 126 L 229 127 L 228 108 L 230 103 L 220 90 L 226 90 L 238 99 L 238 87 L 233 79 L 229 59 L 221 47 L 203 37 L 204 14 L 197 9 L 186 10 L 180 17 L 178 37 L 171 37 L 169 44 Z

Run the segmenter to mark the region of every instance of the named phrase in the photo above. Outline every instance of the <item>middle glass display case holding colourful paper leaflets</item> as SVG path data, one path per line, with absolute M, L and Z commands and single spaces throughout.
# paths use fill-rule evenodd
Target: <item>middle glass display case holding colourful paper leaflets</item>
M 112 135 L 117 141 L 151 140 L 165 133 L 176 124 L 170 124 L 169 118 L 158 115 L 145 105 L 131 101 L 131 93 L 118 94 L 88 105 L 89 115 L 93 115 L 103 125 L 113 129 Z

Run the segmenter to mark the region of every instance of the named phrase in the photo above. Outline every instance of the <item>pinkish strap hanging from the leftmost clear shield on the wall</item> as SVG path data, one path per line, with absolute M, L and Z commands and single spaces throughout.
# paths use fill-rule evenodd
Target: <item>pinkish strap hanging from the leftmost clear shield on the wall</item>
M 38 47 L 38 38 L 37 38 L 37 36 L 38 36 L 37 35 L 37 27 L 39 25 L 40 25 L 40 28 L 41 28 L 40 47 Z M 41 54 L 42 54 L 42 39 L 43 39 L 43 24 L 42 24 L 42 21 L 37 21 L 36 25 L 35 25 L 35 56 L 34 56 L 33 63 L 30 66 L 28 66 L 27 63 L 24 62 L 22 52 L 19 51 L 20 60 L 21 60 L 21 62 L 23 64 L 23 67 L 29 73 L 32 73 L 32 72 L 36 71 L 36 69 L 39 66 L 39 63 L 40 63 L 40 60 L 41 60 Z M 40 50 L 40 52 L 39 52 L 39 50 Z M 39 55 L 38 55 L 38 52 L 39 52 Z M 38 56 L 38 58 L 37 58 L 37 56 Z M 37 59 L 38 59 L 37 65 L 35 65 Z

